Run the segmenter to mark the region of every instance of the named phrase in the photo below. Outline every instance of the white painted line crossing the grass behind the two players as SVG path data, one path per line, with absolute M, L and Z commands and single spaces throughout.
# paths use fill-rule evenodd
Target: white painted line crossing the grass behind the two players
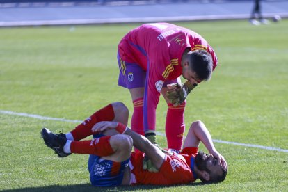
M 22 116 L 22 117 L 28 117 L 28 118 L 35 118 L 35 119 L 40 119 L 40 120 L 56 120 L 56 121 L 62 121 L 62 122 L 77 122 L 81 123 L 83 121 L 81 120 L 66 120 L 64 118 L 51 118 L 51 117 L 45 117 L 42 115 L 34 115 L 34 114 L 28 114 L 28 113 L 17 113 L 13 111 L 3 111 L 0 110 L 1 114 L 7 114 L 7 115 L 17 115 L 17 116 Z M 165 134 L 161 132 L 157 132 L 157 134 L 161 136 L 165 136 Z M 218 139 L 213 140 L 215 143 L 224 143 L 224 144 L 230 144 L 230 145 L 240 145 L 240 146 L 245 146 L 245 147 L 254 147 L 254 148 L 259 148 L 263 150 L 273 150 L 273 151 L 278 151 L 278 152 L 288 152 L 288 150 L 280 149 L 280 148 L 275 148 L 275 147 L 267 147 L 263 145 L 253 145 L 253 144 L 247 144 L 247 143 L 237 143 L 237 142 L 231 142 L 231 141 L 222 141 Z

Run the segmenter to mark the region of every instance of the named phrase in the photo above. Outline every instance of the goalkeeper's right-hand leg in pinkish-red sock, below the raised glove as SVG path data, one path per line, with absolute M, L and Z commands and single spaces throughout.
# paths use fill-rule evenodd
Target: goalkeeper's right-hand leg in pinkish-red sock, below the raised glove
M 186 106 L 186 101 L 178 106 L 173 106 L 173 104 L 169 102 L 169 99 L 166 97 L 165 94 L 168 90 L 167 85 L 177 82 L 181 83 L 181 80 L 175 79 L 173 81 L 167 81 L 166 83 L 164 83 L 161 93 L 168 105 L 165 127 L 168 148 L 174 150 L 181 150 L 185 131 L 184 110 Z

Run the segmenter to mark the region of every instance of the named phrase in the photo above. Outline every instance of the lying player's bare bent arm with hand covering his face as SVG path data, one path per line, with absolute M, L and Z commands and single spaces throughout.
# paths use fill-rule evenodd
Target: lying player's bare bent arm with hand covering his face
M 200 141 L 205 145 L 210 154 L 212 154 L 223 168 L 227 169 L 227 163 L 224 157 L 216 150 L 211 138 L 211 134 L 203 122 L 195 121 L 191 124 L 188 134 L 185 138 L 183 148 L 185 147 L 198 147 Z

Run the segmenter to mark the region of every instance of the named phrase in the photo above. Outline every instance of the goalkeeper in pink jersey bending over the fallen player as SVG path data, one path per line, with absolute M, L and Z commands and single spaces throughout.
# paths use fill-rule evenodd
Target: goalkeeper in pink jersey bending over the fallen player
M 168 148 L 180 150 L 186 97 L 198 83 L 211 78 L 217 65 L 213 49 L 200 35 L 181 26 L 143 24 L 120 41 L 118 64 L 118 85 L 129 89 L 134 105 L 131 129 L 157 144 L 156 109 L 162 93 L 168 105 Z M 184 85 L 181 75 L 188 80 Z

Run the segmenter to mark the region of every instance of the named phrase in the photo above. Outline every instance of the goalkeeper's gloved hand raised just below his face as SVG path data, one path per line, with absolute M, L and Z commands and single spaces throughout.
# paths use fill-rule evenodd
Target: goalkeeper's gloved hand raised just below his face
M 189 94 L 188 88 L 182 83 L 168 84 L 167 88 L 166 96 L 173 106 L 182 104 Z

